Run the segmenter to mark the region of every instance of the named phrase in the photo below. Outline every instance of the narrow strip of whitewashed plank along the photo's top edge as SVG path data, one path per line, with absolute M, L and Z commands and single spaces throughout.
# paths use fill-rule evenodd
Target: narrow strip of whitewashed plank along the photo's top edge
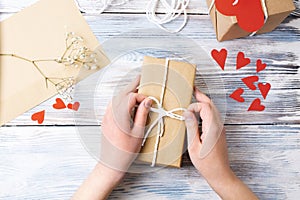
M 18 12 L 21 9 L 28 7 L 38 0 L 1 0 L 0 12 Z M 150 0 L 129 0 L 126 4 L 120 6 L 109 6 L 106 13 L 145 13 L 146 5 Z M 101 1 L 94 0 L 77 0 L 81 10 L 86 11 L 86 14 L 95 12 L 95 8 L 102 8 Z M 93 3 L 96 2 L 96 3 Z M 116 1 L 118 2 L 118 1 Z M 119 1 L 120 2 L 120 1 Z M 99 9 L 98 9 L 99 10 Z M 187 12 L 193 14 L 206 14 L 208 7 L 205 1 L 191 0 Z M 97 11 L 97 10 L 96 10 Z M 159 6 L 158 12 L 164 12 L 162 6 Z

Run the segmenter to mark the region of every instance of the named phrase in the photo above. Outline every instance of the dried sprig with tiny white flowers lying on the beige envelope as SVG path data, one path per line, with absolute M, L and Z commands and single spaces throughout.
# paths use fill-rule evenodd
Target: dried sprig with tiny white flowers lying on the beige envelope
M 32 63 L 37 71 L 44 77 L 46 88 L 48 88 L 48 82 L 55 86 L 57 92 L 66 101 L 72 100 L 72 92 L 74 90 L 75 79 L 74 77 L 47 77 L 45 73 L 39 67 L 40 62 L 56 62 L 66 67 L 81 68 L 84 67 L 87 70 L 97 69 L 98 60 L 96 54 L 85 46 L 84 39 L 81 36 L 76 35 L 74 32 L 68 32 L 65 39 L 65 50 L 61 57 L 55 59 L 38 59 L 30 60 L 28 58 L 16 55 L 16 54 L 2 54 L 0 56 L 11 56 L 17 59 L 24 60 Z

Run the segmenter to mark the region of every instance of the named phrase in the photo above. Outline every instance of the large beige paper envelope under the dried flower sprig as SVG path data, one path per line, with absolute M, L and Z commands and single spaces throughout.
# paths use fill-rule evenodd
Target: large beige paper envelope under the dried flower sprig
M 66 49 L 67 32 L 81 36 L 92 51 L 99 46 L 73 0 L 41 0 L 1 22 L 0 53 L 29 60 L 57 59 Z M 100 48 L 95 53 L 98 68 L 94 70 L 51 61 L 39 66 L 47 77 L 74 77 L 77 82 L 109 63 Z M 46 87 L 45 78 L 32 63 L 0 56 L 0 64 L 0 125 L 57 94 L 54 84 L 48 83 Z

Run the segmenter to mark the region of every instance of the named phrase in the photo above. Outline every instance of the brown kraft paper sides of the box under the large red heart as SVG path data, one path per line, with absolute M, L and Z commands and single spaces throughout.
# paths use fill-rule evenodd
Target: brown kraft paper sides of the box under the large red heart
M 263 0 L 262 0 L 263 1 Z M 212 0 L 206 0 L 208 7 Z M 295 5 L 293 0 L 266 0 L 268 19 L 256 34 L 271 32 L 274 30 L 293 10 Z M 253 15 L 256 13 L 253 12 Z M 243 30 L 237 23 L 235 16 L 225 16 L 220 13 L 214 5 L 210 11 L 210 17 L 216 32 L 218 41 L 242 38 L 251 35 L 251 32 Z

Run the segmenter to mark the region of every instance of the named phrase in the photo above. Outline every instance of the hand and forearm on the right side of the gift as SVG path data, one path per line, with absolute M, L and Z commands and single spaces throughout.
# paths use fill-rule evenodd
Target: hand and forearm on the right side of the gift
M 194 96 L 198 102 L 191 104 L 184 113 L 193 165 L 222 199 L 257 199 L 230 168 L 225 128 L 218 109 L 197 88 Z M 202 119 L 201 134 L 196 115 Z

